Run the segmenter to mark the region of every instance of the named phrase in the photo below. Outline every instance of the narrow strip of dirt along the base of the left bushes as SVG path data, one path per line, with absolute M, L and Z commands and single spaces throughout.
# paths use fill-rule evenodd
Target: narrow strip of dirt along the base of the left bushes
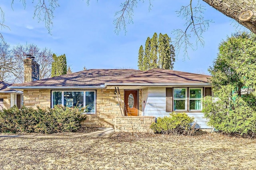
M 77 134 L 85 134 L 85 133 L 91 133 L 91 132 L 96 132 L 99 129 L 96 127 L 81 127 L 78 131 L 76 132 L 58 132 L 58 133 L 51 133 L 51 134 L 44 134 L 44 133 L 28 133 L 28 132 L 16 132 L 16 133 L 0 133 L 0 135 L 77 135 Z

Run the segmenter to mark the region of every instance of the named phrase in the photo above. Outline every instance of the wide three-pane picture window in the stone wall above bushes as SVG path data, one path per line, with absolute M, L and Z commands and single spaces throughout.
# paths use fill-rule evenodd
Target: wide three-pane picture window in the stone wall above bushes
M 52 91 L 52 107 L 86 107 L 85 112 L 95 114 L 96 91 Z

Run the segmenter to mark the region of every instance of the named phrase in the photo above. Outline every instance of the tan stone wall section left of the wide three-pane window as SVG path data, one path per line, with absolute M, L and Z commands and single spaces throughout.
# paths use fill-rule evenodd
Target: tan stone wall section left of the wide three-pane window
M 24 106 L 36 109 L 51 107 L 51 91 L 48 89 L 23 90 Z

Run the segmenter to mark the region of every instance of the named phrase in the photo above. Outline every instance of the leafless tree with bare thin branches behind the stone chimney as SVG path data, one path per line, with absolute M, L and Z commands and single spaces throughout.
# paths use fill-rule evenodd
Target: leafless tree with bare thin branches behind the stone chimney
M 37 45 L 16 45 L 10 49 L 6 43 L 0 44 L 0 80 L 8 83 L 22 83 L 24 81 L 24 62 L 26 54 L 31 54 L 40 65 L 39 78 L 45 79 L 51 76 L 52 51 Z

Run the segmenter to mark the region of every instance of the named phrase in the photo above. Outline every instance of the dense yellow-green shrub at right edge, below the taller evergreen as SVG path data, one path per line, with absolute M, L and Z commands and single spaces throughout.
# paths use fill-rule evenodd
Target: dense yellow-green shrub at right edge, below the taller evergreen
M 253 136 L 256 132 L 256 111 L 255 103 L 251 105 L 242 97 L 229 99 L 220 98 L 212 101 L 211 97 L 206 97 L 203 101 L 204 117 L 220 132 L 228 134 L 240 134 Z

